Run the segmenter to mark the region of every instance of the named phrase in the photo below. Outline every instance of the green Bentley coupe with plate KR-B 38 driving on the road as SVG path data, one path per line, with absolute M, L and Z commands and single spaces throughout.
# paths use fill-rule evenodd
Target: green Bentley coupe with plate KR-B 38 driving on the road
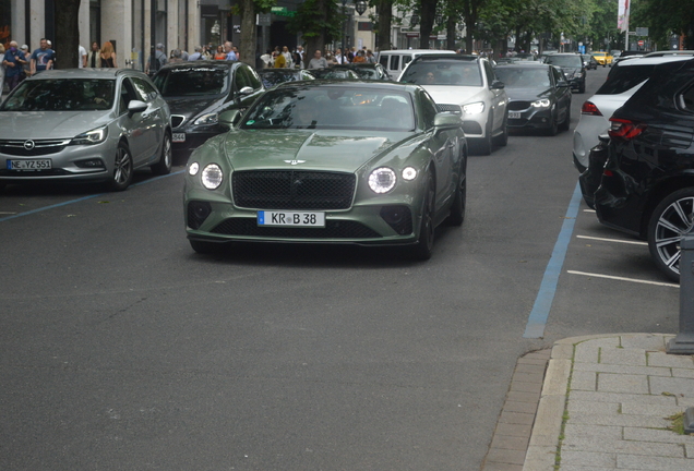
M 410 245 L 428 259 L 434 228 L 465 217 L 459 114 L 418 85 L 290 82 L 208 140 L 186 172 L 188 239 Z

